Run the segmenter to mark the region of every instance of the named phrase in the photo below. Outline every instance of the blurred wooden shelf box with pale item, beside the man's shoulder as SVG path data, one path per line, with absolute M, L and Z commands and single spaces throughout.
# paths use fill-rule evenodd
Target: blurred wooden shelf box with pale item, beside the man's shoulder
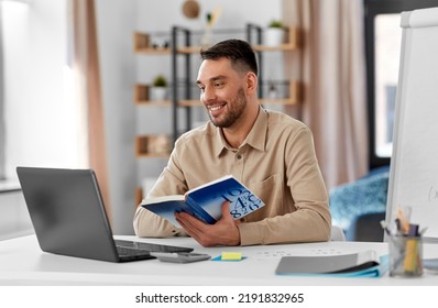
M 139 158 L 168 158 L 171 147 L 171 138 L 165 134 L 140 135 L 135 138 L 135 156 Z

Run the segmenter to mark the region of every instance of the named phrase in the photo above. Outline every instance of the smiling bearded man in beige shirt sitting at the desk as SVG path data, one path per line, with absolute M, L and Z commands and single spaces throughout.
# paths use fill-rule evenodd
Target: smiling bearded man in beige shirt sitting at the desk
M 264 110 L 258 100 L 258 65 L 251 46 L 228 40 L 201 51 L 196 84 L 210 122 L 175 143 L 151 196 L 184 194 L 232 174 L 265 206 L 234 221 L 205 224 L 180 212 L 183 228 L 139 207 L 139 237 L 190 235 L 204 246 L 327 241 L 331 216 L 313 136 L 302 122 Z

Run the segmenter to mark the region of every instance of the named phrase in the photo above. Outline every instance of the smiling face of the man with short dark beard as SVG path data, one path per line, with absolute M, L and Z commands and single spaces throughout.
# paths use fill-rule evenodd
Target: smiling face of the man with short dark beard
M 247 107 L 245 76 L 232 69 L 228 58 L 206 59 L 196 82 L 211 122 L 219 128 L 233 125 Z

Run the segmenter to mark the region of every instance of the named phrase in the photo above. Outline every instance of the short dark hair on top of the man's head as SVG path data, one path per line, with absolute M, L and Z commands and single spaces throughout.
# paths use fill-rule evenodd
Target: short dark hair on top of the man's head
M 231 61 L 236 70 L 253 72 L 258 75 L 258 62 L 251 45 L 242 40 L 231 38 L 219 42 L 207 50 L 200 51 L 202 59 L 219 59 L 226 57 Z

